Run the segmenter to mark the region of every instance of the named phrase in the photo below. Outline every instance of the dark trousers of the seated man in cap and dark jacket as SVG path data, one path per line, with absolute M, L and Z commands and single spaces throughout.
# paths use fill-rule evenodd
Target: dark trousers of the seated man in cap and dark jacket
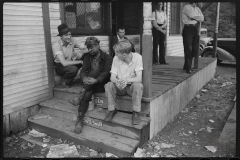
M 97 78 L 101 73 L 99 71 L 92 71 L 89 73 L 89 77 Z M 104 92 L 104 85 L 103 84 L 94 84 L 94 85 L 83 85 L 85 89 L 85 94 L 80 101 L 78 112 L 82 112 L 84 115 L 87 112 L 89 102 L 92 100 L 92 95 L 97 92 Z

